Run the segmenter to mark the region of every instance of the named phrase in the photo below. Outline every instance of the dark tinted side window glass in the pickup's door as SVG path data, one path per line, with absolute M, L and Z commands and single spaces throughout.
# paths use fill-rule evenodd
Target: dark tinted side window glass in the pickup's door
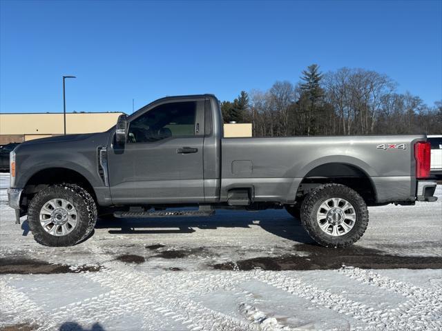
M 128 142 L 148 143 L 195 134 L 197 101 L 164 103 L 129 124 Z

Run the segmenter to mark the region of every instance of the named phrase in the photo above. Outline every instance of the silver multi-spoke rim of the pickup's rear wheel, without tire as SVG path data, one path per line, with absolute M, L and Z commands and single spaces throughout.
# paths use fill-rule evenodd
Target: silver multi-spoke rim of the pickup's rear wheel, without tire
M 345 199 L 327 199 L 319 206 L 316 221 L 323 232 L 331 236 L 342 236 L 354 227 L 356 210 Z

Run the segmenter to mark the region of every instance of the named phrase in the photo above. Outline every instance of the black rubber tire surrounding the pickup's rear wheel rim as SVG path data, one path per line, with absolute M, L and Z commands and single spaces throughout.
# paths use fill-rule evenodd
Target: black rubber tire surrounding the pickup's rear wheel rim
M 320 205 L 327 199 L 341 198 L 352 204 L 356 212 L 356 221 L 349 232 L 332 236 L 321 230 L 316 214 Z M 301 223 L 309 236 L 325 247 L 345 248 L 358 241 L 368 225 L 368 210 L 364 199 L 345 185 L 325 184 L 311 190 L 301 205 Z

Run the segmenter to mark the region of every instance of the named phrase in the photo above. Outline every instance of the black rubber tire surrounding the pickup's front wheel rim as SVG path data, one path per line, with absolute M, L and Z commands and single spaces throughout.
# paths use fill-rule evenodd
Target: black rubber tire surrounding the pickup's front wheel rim
M 77 210 L 75 228 L 64 236 L 55 236 L 44 230 L 39 221 L 41 208 L 50 199 L 65 199 Z M 97 206 L 90 194 L 75 184 L 57 184 L 44 188 L 30 201 L 28 208 L 29 228 L 35 241 L 45 246 L 72 246 L 79 243 L 93 231 L 97 221 Z

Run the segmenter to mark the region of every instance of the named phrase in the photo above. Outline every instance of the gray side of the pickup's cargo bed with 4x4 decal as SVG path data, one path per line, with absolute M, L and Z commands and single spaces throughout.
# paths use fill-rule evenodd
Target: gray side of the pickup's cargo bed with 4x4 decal
M 415 166 L 410 146 L 418 140 L 425 136 L 224 138 L 221 197 L 229 188 L 248 183 L 256 188 L 256 201 L 290 203 L 304 177 L 320 177 L 318 166 L 344 163 L 371 178 L 376 202 L 411 200 L 416 179 L 410 175 Z

